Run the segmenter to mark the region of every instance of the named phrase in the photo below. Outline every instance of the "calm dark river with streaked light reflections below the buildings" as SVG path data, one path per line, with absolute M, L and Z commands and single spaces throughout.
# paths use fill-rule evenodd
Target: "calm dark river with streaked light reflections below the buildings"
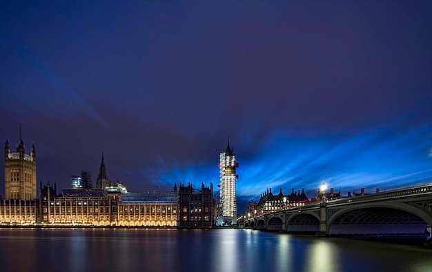
M 0 229 L 0 271 L 432 271 L 432 250 L 240 229 Z

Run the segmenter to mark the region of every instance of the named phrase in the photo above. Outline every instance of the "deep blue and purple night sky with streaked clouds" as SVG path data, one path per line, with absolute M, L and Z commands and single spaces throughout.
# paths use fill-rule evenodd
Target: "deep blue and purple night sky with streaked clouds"
M 267 188 L 432 182 L 430 1 L 12 2 L 0 141 L 22 123 L 38 182 L 95 185 L 104 152 L 130 191 L 218 194 L 228 136 L 239 213 Z

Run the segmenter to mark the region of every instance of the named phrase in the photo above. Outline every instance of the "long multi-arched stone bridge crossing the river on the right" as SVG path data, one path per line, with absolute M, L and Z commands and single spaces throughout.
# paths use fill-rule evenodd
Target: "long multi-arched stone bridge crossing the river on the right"
M 432 184 L 303 207 L 248 218 L 246 228 L 320 235 L 414 235 L 432 225 Z

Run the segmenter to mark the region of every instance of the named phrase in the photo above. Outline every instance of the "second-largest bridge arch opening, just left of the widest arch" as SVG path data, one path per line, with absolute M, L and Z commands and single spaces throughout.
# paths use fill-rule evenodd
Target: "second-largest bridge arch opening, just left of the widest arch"
M 293 213 L 286 222 L 288 232 L 318 232 L 320 231 L 320 216 L 317 213 L 303 211 Z

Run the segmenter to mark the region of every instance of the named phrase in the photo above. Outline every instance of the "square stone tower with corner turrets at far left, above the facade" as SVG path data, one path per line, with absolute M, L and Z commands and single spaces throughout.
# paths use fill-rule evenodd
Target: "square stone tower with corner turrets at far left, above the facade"
M 26 153 L 19 124 L 19 144 L 14 152 L 10 151 L 9 141 L 5 143 L 5 199 L 35 200 L 36 148 L 32 145 L 30 154 Z

